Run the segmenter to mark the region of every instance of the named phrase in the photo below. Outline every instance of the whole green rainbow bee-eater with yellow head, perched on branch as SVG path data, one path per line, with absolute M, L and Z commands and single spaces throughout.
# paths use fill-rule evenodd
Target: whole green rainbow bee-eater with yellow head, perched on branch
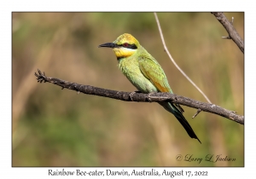
M 147 50 L 131 34 L 120 35 L 113 43 L 103 43 L 99 47 L 113 49 L 120 71 L 137 90 L 143 93 L 172 93 L 166 74 L 160 64 L 152 55 L 148 54 Z M 172 102 L 159 102 L 159 104 L 177 118 L 191 138 L 200 141 L 186 118 L 183 117 L 182 107 Z

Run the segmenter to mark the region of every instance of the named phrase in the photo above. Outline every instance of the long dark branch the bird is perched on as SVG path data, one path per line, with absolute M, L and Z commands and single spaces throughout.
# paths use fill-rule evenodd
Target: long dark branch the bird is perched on
M 62 87 L 62 89 L 66 88 L 68 90 L 75 90 L 87 94 L 87 95 L 99 95 L 102 97 L 113 98 L 121 101 L 137 101 L 137 102 L 159 102 L 159 101 L 171 101 L 173 103 L 181 104 L 187 107 L 193 107 L 208 113 L 215 113 L 219 116 L 223 116 L 224 118 L 229 118 L 230 120 L 236 121 L 236 123 L 244 124 L 244 116 L 237 115 L 235 112 L 224 109 L 222 107 L 218 107 L 214 104 L 209 104 L 201 101 L 195 101 L 193 99 L 183 97 L 181 95 L 174 95 L 171 93 L 131 93 L 124 91 L 116 91 L 116 90 L 106 90 L 102 88 L 97 88 L 90 85 L 76 84 L 68 81 L 64 81 L 58 78 L 50 78 L 46 77 L 45 73 L 42 73 L 38 70 L 38 73 L 35 72 L 35 76 L 38 79 L 38 82 L 49 82 L 51 84 L 56 84 Z M 132 98 L 131 98 L 132 94 Z

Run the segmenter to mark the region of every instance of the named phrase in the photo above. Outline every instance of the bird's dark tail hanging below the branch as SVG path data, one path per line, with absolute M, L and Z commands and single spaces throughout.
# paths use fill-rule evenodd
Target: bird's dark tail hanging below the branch
M 183 125 L 183 128 L 187 131 L 187 133 L 191 138 L 194 138 L 200 141 L 198 137 L 195 135 L 194 130 L 189 125 L 189 122 L 186 120 L 186 118 L 183 117 L 183 114 L 177 109 L 177 107 L 175 107 L 171 102 L 159 102 L 159 103 L 162 107 L 165 107 L 165 109 L 168 112 L 172 113 L 177 118 L 177 120 L 180 122 L 180 124 Z

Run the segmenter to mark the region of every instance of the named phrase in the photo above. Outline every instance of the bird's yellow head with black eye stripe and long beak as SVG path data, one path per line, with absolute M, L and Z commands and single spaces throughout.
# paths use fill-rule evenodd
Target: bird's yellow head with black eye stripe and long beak
M 103 43 L 99 47 L 112 48 L 114 54 L 119 59 L 133 55 L 140 48 L 140 43 L 131 34 L 124 33 L 113 41 L 113 43 Z

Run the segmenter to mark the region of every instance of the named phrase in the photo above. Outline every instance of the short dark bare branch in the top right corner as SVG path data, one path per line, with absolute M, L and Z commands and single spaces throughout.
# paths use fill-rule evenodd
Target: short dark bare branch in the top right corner
M 215 13 L 212 14 L 217 18 L 217 20 L 224 26 L 226 31 L 229 33 L 229 37 L 223 37 L 226 39 L 232 39 L 241 52 L 244 53 L 244 43 L 239 34 L 236 32 L 235 27 L 233 26 L 234 18 L 232 17 L 232 21 L 230 22 L 223 13 Z

